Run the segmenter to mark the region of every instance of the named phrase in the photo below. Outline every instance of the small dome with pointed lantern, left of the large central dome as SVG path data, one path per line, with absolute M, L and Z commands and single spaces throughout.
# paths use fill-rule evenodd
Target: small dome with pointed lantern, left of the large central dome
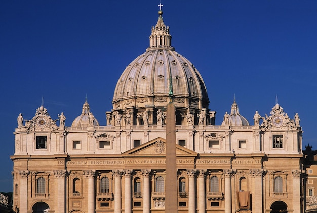
M 90 107 L 87 99 L 83 105 L 82 114 L 74 119 L 71 127 L 88 127 L 88 126 L 99 126 L 99 122 L 94 117 L 93 113 L 90 112 Z

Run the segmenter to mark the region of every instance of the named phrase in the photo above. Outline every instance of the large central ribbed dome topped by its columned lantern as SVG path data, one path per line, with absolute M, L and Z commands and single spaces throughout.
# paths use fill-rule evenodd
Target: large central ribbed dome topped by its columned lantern
M 169 27 L 159 20 L 152 27 L 150 47 L 134 59 L 118 80 L 113 109 L 166 107 L 172 93 L 176 108 L 208 109 L 209 99 L 199 71 L 171 46 Z M 171 82 L 170 82 L 171 81 Z

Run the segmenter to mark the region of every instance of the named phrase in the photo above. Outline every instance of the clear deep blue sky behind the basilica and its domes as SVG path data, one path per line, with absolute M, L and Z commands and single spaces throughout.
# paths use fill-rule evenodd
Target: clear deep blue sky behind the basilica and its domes
M 42 103 L 66 126 L 81 114 L 86 94 L 101 125 L 115 84 L 149 46 L 159 0 L 0 2 L 0 191 L 12 191 L 16 118 L 32 118 Z M 200 71 L 220 125 L 235 94 L 253 124 L 275 95 L 293 118 L 303 146 L 317 149 L 317 1 L 162 0 L 172 45 Z

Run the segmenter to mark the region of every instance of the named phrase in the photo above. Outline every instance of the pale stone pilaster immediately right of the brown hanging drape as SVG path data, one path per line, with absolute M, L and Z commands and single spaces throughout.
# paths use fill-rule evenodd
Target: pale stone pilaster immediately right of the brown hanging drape
M 263 169 L 252 169 L 250 170 L 251 177 L 254 178 L 254 189 L 252 192 L 252 200 L 254 213 L 262 213 L 263 212 Z

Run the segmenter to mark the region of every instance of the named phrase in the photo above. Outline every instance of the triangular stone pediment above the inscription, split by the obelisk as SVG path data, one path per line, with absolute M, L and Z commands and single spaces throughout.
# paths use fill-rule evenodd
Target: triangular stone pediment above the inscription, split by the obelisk
M 124 152 L 124 155 L 165 155 L 166 153 L 166 139 L 158 137 L 147 143 L 144 143 L 138 147 L 130 149 L 129 151 Z M 176 155 L 194 155 L 198 153 L 187 148 L 184 148 L 176 144 Z

